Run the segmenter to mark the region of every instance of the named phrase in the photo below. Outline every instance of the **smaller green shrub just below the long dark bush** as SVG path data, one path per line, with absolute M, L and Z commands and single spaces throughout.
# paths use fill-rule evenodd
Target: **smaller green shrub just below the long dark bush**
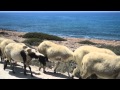
M 43 40 L 38 39 L 38 38 L 29 38 L 27 40 L 24 40 L 23 43 L 29 44 L 29 45 L 34 45 L 38 46 Z

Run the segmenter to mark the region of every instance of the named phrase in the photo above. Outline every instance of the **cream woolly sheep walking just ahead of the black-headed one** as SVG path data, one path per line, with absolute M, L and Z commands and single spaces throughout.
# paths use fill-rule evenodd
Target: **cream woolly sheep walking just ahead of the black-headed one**
M 54 73 L 56 73 L 56 69 L 60 62 L 65 62 L 66 64 L 67 61 L 73 59 L 73 52 L 69 48 L 63 45 L 55 44 L 48 40 L 45 40 L 39 44 L 38 51 L 44 54 L 50 61 L 58 62 L 54 68 Z M 67 72 L 70 77 L 69 68 Z

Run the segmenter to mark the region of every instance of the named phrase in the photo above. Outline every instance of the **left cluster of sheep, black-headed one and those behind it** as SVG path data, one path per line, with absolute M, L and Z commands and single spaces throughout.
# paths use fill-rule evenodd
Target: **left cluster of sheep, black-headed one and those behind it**
M 13 73 L 15 73 L 14 66 L 16 62 L 23 62 L 24 75 L 26 75 L 26 67 L 29 67 L 31 76 L 33 76 L 30 62 L 33 58 L 36 58 L 43 65 L 46 64 L 47 58 L 38 52 L 38 50 L 31 48 L 24 43 L 19 43 L 11 39 L 0 38 L 0 55 L 1 62 L 4 61 L 4 70 L 10 62 Z

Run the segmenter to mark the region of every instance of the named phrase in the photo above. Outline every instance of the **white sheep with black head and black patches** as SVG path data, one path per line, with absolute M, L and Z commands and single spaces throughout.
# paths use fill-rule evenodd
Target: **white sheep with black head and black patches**
M 24 43 L 9 43 L 5 49 L 4 49 L 5 56 L 7 58 L 7 61 L 13 60 L 15 62 L 23 62 L 24 64 L 24 75 L 26 75 L 26 67 L 29 67 L 31 76 L 32 71 L 30 65 L 30 61 L 32 58 L 39 58 L 39 61 L 44 64 L 46 58 L 43 54 L 39 53 L 37 50 L 32 49 L 28 46 L 26 46 Z M 5 60 L 4 63 L 4 70 L 7 66 L 7 61 Z M 14 71 L 14 63 L 12 66 L 13 73 Z

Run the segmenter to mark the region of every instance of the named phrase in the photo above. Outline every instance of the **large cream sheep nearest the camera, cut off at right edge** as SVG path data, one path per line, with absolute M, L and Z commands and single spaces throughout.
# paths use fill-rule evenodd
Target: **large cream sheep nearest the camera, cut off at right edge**
M 91 52 L 81 62 L 81 77 L 96 74 L 101 79 L 120 79 L 120 56 Z

